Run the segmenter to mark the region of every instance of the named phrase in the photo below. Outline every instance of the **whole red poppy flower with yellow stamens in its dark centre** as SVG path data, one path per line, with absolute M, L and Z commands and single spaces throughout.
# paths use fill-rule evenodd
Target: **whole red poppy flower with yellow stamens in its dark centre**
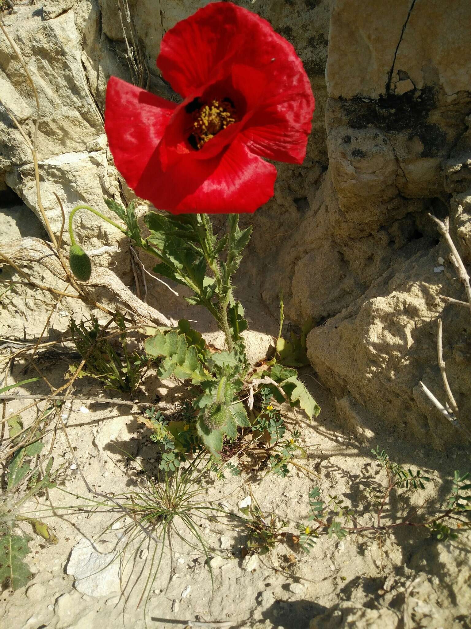
M 276 179 L 262 158 L 305 158 L 314 97 L 295 49 L 266 20 L 219 2 L 165 34 L 157 65 L 183 103 L 108 82 L 105 128 L 117 169 L 173 214 L 254 212 Z

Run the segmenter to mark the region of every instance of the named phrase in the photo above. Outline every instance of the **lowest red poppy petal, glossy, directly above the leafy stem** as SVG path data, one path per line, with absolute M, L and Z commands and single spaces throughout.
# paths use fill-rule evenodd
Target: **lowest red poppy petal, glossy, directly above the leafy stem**
M 212 159 L 181 157 L 164 172 L 156 151 L 134 191 L 173 214 L 254 212 L 273 196 L 276 168 L 233 142 Z

